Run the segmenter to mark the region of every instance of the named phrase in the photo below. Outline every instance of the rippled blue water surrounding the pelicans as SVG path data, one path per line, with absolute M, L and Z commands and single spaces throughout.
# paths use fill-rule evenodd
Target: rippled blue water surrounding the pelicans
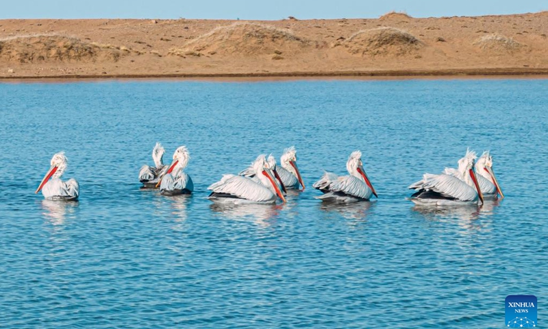
M 502 328 L 548 321 L 548 80 L 0 84 L 4 328 Z M 187 145 L 192 197 L 140 191 L 156 141 Z M 222 208 L 206 188 L 297 147 L 307 189 Z M 414 208 L 408 184 L 490 149 L 506 199 Z M 361 149 L 379 199 L 312 183 Z M 34 190 L 57 151 L 81 201 Z

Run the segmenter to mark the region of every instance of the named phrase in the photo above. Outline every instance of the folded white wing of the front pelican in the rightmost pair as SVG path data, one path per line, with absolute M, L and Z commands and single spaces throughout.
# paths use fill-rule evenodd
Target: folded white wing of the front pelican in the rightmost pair
M 477 192 L 464 181 L 447 174 L 433 175 L 425 173 L 423 180 L 409 186 L 415 190 L 426 190 L 440 193 L 444 197 L 461 201 L 475 201 Z

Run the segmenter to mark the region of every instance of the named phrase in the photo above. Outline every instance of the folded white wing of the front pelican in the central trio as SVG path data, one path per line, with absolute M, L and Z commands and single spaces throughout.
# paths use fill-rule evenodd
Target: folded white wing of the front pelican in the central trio
M 208 190 L 254 202 L 269 202 L 276 199 L 276 195 L 266 186 L 253 182 L 250 178 L 237 175 L 223 175 L 223 178 L 209 186 Z

